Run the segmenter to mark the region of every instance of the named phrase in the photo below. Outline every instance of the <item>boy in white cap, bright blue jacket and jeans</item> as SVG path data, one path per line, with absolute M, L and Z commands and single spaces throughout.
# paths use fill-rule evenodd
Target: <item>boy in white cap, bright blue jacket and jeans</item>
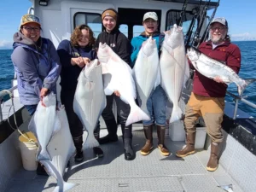
M 144 41 L 152 36 L 156 41 L 157 48 L 160 50 L 160 44 L 164 39 L 164 34 L 158 31 L 158 16 L 155 12 L 148 12 L 143 16 L 143 26 L 145 32 L 131 39 L 131 67 L 135 65 L 137 55 Z M 138 101 L 140 100 L 138 99 Z M 161 85 L 158 85 L 155 90 L 152 91 L 147 101 L 147 109 L 151 119 L 143 120 L 143 129 L 146 137 L 146 143 L 141 149 L 141 154 L 143 155 L 148 155 L 153 148 L 153 124 L 157 127 L 158 148 L 160 148 L 160 153 L 165 156 L 170 154 L 165 145 L 166 104 L 166 92 Z

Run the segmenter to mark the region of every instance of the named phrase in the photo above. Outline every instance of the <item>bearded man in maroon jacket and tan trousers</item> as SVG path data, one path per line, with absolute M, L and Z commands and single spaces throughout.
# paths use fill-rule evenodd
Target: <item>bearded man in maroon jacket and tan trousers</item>
M 210 25 L 210 40 L 200 44 L 201 53 L 213 60 L 222 61 L 238 73 L 241 67 L 241 52 L 236 44 L 230 43 L 228 22 L 224 18 L 215 18 Z M 195 69 L 190 63 L 189 66 Z M 184 126 L 186 147 L 176 152 L 177 157 L 195 154 L 195 124 L 202 116 L 207 125 L 207 134 L 211 137 L 211 155 L 207 170 L 214 172 L 218 168 L 218 154 L 224 136 L 221 123 L 224 115 L 224 96 L 227 85 L 219 79 L 209 79 L 195 70 L 193 90 L 186 107 Z

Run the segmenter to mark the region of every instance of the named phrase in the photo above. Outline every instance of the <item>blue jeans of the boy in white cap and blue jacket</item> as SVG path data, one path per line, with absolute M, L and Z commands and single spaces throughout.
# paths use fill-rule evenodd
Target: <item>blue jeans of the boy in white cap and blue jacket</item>
M 143 120 L 143 125 L 152 125 L 155 122 L 156 125 L 166 126 L 166 105 L 166 92 L 158 85 L 148 97 L 147 109 L 150 120 Z

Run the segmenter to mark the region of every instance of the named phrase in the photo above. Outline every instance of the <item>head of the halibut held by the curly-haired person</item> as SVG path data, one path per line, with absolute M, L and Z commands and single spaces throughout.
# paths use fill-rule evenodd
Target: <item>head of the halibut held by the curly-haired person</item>
M 99 60 L 95 59 L 90 61 L 90 63 L 84 67 L 84 77 L 86 79 L 96 81 L 99 75 L 102 75 L 102 65 Z

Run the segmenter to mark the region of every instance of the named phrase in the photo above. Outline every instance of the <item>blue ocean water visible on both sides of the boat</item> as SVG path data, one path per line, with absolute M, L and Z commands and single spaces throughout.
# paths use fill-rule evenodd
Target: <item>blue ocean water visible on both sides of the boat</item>
M 256 41 L 233 42 L 241 49 L 241 70 L 239 76 L 243 79 L 256 79 Z M 13 50 L 0 49 L 0 90 L 9 89 L 11 80 L 14 78 L 14 67 L 10 59 Z M 237 95 L 236 84 L 230 84 L 228 90 Z M 247 96 L 249 102 L 256 104 L 256 82 L 247 86 L 244 91 L 244 96 Z M 228 102 L 234 103 L 233 98 L 226 96 Z M 256 117 L 256 109 L 251 108 L 239 102 L 239 108 Z

